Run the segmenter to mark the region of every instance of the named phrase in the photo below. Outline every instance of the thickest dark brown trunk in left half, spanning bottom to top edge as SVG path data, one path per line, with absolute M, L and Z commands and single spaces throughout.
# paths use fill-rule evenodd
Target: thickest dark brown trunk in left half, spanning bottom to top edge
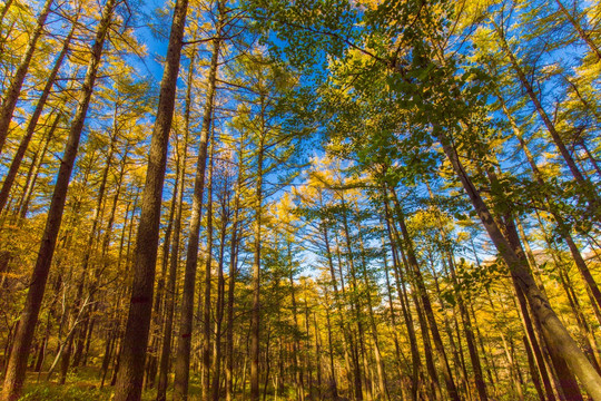
M 179 59 L 184 46 L 184 27 L 188 0 L 177 0 L 174 9 L 167 61 L 157 106 L 157 118 L 150 141 L 148 172 L 142 193 L 136 262 L 126 332 L 120 354 L 115 400 L 139 400 L 144 380 L 144 362 L 152 313 L 152 292 L 157 263 L 162 184 L 167 164 L 169 131 L 174 118 Z

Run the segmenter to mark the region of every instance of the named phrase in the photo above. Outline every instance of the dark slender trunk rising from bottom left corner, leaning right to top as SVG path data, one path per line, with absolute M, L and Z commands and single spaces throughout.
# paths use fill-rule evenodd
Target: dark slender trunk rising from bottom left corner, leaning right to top
M 96 75 L 100 66 L 102 47 L 105 45 L 105 39 L 108 33 L 116 2 L 117 0 L 108 0 L 106 3 L 96 32 L 96 39 L 91 48 L 91 58 L 88 65 L 88 71 L 86 72 L 86 78 L 83 80 L 83 86 L 81 88 L 79 106 L 71 124 L 71 129 L 69 130 L 65 154 L 57 175 L 57 184 L 52 194 L 52 200 L 50 203 L 50 208 L 48 209 L 48 217 L 46 221 L 40 251 L 38 253 L 36 266 L 33 267 L 30 282 L 31 284 L 27 293 L 27 300 L 21 313 L 19 330 L 17 332 L 11 358 L 9 360 L 7 376 L 4 379 L 1 395 L 3 401 L 17 400 L 23 385 L 27 360 L 29 358 L 29 348 L 31 346 L 31 341 L 33 339 L 33 331 L 38 322 L 46 282 L 48 280 L 48 273 L 50 272 L 50 265 L 52 263 L 52 255 L 55 253 L 55 246 L 57 244 L 57 237 L 62 221 L 62 212 L 65 211 L 67 189 L 69 187 L 71 172 L 79 147 L 79 139 L 81 137 L 81 131 L 83 130 L 83 123 L 86 120 L 88 106 L 93 91 Z

